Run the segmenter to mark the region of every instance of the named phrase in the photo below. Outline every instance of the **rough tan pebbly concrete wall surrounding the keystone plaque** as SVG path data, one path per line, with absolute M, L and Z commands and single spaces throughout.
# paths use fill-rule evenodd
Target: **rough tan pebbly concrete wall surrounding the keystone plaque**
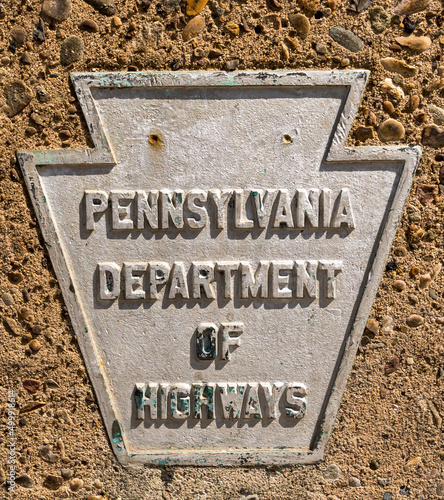
M 185 0 L 46 0 L 39 41 L 42 1 L 0 0 L 0 498 L 444 497 L 442 3 L 188 3 L 187 12 Z M 332 39 L 335 26 L 360 37 L 346 42 L 358 52 Z M 412 28 L 425 38 L 406 42 Z M 369 69 L 350 144 L 423 143 L 423 157 L 325 460 L 125 470 L 108 445 L 14 154 L 91 146 L 71 71 L 234 68 Z M 412 314 L 419 326 L 407 321 Z M 11 388 L 20 409 L 15 493 L 5 483 Z

